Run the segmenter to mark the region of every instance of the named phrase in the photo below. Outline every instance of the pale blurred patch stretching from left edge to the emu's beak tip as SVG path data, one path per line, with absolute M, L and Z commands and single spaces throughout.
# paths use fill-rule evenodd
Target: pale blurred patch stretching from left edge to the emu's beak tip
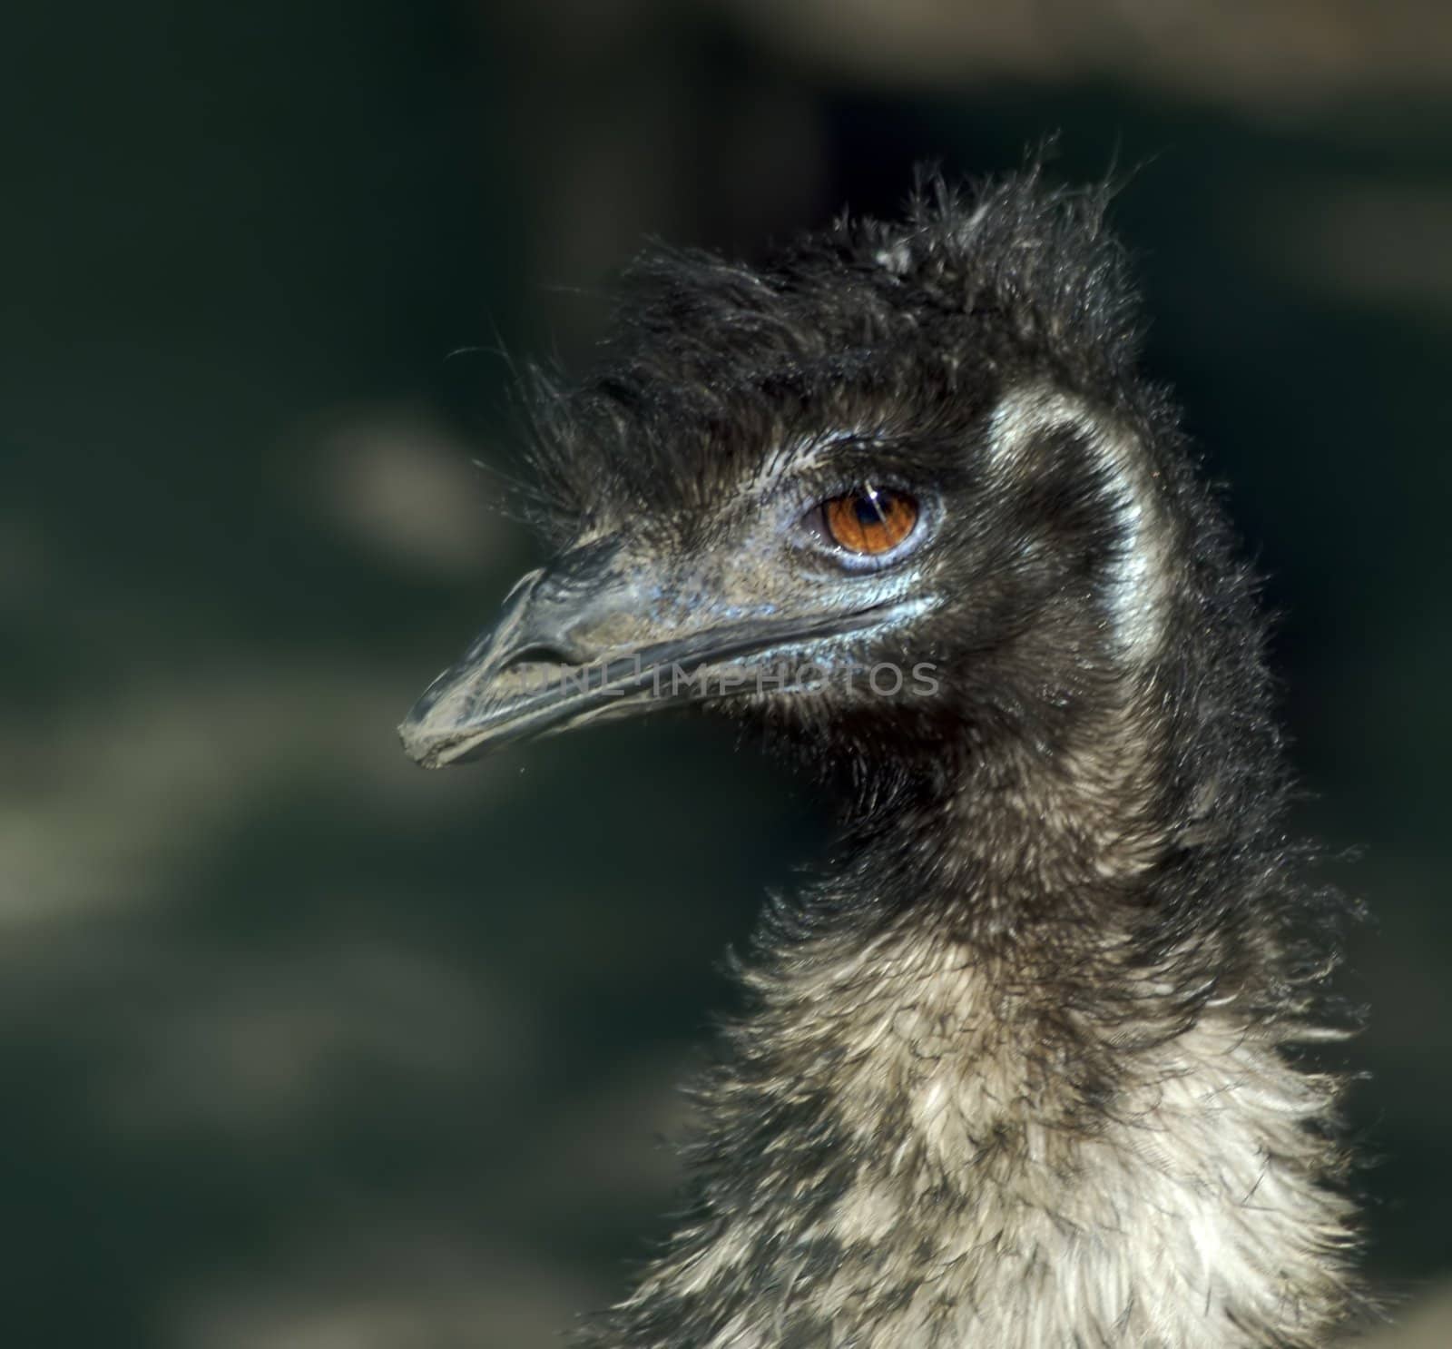
M 57 725 L 0 717 L 0 928 L 12 953 L 19 925 L 163 902 L 238 812 L 299 775 L 385 799 L 395 818 L 469 809 L 470 793 L 398 749 L 392 728 L 418 682 L 417 669 L 269 667 L 215 651 Z M 473 786 L 498 780 L 484 765 Z

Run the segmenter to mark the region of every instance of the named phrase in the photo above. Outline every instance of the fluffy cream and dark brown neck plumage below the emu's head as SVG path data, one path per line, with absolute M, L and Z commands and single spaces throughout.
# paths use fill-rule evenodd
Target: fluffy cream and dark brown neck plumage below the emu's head
M 693 1215 L 588 1343 L 1326 1343 L 1350 1205 L 1289 957 L 1249 900 L 1165 919 L 1204 790 L 1073 748 L 908 783 L 768 913 Z

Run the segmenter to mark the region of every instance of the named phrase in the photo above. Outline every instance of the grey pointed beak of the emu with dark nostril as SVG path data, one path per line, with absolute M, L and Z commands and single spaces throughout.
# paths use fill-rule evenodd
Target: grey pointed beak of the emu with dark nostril
M 794 653 L 883 617 L 883 606 L 803 619 L 768 616 L 759 604 L 754 616 L 741 607 L 716 614 L 664 590 L 658 576 L 623 568 L 608 540 L 523 576 L 495 626 L 404 719 L 405 751 L 441 768 L 588 720 L 741 694 L 756 687 L 772 649 Z M 751 668 L 733 664 L 748 658 L 756 658 Z

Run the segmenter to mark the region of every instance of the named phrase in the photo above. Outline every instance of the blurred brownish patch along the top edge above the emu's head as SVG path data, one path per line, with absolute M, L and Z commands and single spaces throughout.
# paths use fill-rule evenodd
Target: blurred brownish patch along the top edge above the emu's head
M 877 86 L 1117 78 L 1285 110 L 1350 93 L 1442 94 L 1452 9 L 1436 0 L 723 0 L 758 41 Z

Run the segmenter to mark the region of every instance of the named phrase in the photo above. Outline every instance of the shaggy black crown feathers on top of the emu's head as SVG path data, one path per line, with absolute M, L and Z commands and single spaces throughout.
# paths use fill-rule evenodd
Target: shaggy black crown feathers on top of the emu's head
M 995 373 L 1044 363 L 1067 386 L 1121 392 L 1143 321 L 1108 199 L 1047 190 L 1037 171 L 971 202 L 932 179 L 906 225 L 844 216 L 767 269 L 643 254 L 598 372 L 568 395 L 536 375 L 540 504 L 566 533 L 601 497 L 690 507 L 823 418 L 937 441 L 954 470 L 954 433 Z

